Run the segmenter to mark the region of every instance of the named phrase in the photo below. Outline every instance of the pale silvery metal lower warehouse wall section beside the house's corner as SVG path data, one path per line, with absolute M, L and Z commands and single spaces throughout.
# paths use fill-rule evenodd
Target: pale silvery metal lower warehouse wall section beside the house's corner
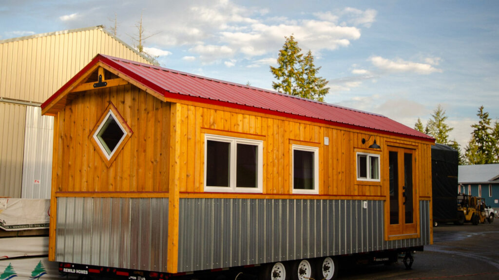
M 21 198 L 50 199 L 53 134 L 54 118 L 27 106 Z

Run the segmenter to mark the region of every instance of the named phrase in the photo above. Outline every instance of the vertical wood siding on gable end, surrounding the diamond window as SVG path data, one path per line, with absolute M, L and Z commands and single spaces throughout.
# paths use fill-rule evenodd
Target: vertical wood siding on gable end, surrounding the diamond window
M 89 137 L 109 102 L 132 137 L 107 167 Z M 170 104 L 131 85 L 82 93 L 55 119 L 57 191 L 168 191 Z

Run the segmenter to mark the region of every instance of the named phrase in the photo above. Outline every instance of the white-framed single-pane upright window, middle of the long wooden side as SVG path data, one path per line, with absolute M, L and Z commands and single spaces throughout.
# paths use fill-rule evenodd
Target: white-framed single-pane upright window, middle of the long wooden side
M 293 193 L 319 193 L 319 148 L 292 145 Z

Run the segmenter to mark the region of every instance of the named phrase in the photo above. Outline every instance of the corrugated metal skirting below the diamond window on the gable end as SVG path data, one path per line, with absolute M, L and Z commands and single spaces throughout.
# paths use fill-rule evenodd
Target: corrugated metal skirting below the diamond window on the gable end
M 166 271 L 168 198 L 58 197 L 55 261 Z

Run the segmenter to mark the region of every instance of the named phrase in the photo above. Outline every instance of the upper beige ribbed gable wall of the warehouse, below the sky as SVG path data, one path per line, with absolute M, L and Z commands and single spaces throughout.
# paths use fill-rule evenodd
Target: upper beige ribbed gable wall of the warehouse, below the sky
M 0 41 L 0 97 L 44 102 L 98 53 L 151 63 L 101 26 Z

